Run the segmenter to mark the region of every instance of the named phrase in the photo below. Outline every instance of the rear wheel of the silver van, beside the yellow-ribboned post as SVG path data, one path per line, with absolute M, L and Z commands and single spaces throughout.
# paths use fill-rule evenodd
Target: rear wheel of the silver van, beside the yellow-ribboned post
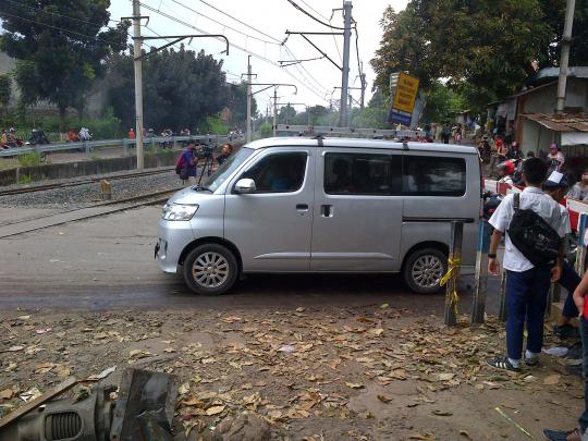
M 413 252 L 404 265 L 404 281 L 415 293 L 433 294 L 448 271 L 448 258 L 437 248 L 421 248 Z

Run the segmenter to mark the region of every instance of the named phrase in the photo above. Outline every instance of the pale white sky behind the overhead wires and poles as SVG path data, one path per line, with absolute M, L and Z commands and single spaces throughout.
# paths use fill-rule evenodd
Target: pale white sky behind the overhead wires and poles
M 293 0 L 323 22 L 333 26 L 343 26 L 341 11 L 332 11 L 343 7 L 343 0 Z M 371 96 L 375 74 L 369 65 L 382 36 L 380 20 L 388 5 L 400 11 L 406 7 L 407 0 L 353 0 L 353 19 L 357 22 L 359 35 L 359 60 L 368 83 L 366 103 Z M 292 59 L 311 59 L 321 57 L 301 36 L 291 35 L 285 45 L 281 42 L 291 32 L 331 32 L 330 29 L 296 10 L 287 0 L 142 0 L 142 15 L 149 16 L 148 25 L 142 26 L 145 36 L 184 35 L 184 34 L 222 34 L 231 44 L 229 56 L 221 53 L 225 44 L 213 38 L 195 38 L 189 49 L 212 54 L 224 60 L 229 82 L 240 82 L 241 74 L 247 72 L 247 56 L 252 54 L 252 72 L 257 74 L 254 83 L 289 83 L 297 86 L 278 89 L 279 102 L 302 102 L 308 106 L 328 106 L 331 98 L 340 97 L 341 71 L 327 59 L 314 60 L 289 68 L 280 68 L 278 61 Z M 151 10 L 150 10 L 151 9 Z M 133 13 L 131 0 L 111 0 L 111 20 L 120 20 Z M 229 17 L 232 15 L 242 23 Z M 168 15 L 168 16 L 164 16 Z M 184 22 L 179 23 L 172 19 Z M 145 22 L 144 22 L 145 24 Z M 193 26 L 193 27 L 189 27 Z M 334 29 L 333 32 L 340 32 Z M 323 52 L 334 62 L 341 64 L 343 36 L 309 36 Z M 187 44 L 187 40 L 185 40 Z M 154 46 L 167 44 L 164 40 L 148 41 Z M 352 35 L 350 86 L 359 87 L 355 35 Z M 254 86 L 254 93 L 262 86 Z M 360 90 L 351 90 L 355 100 L 359 101 Z M 255 97 L 258 110 L 266 113 L 272 89 L 260 91 Z M 354 103 L 354 107 L 357 106 Z M 298 111 L 304 106 L 297 106 Z

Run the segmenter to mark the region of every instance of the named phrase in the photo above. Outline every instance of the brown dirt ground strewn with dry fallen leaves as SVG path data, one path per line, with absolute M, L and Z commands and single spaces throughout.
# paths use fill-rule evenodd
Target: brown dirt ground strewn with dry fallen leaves
M 218 437 L 244 413 L 255 416 L 252 440 L 540 439 L 546 427 L 574 427 L 583 406 L 564 359 L 543 355 L 515 375 L 486 367 L 504 345 L 493 318 L 448 329 L 442 317 L 379 304 L 0 320 L 0 413 L 69 376 L 115 366 L 103 381 L 118 384 L 140 367 L 180 378 L 177 440 Z

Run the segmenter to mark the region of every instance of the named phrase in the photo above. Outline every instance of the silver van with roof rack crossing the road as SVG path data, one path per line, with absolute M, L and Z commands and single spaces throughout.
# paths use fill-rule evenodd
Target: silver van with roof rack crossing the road
M 475 265 L 481 176 L 475 147 L 269 138 L 242 147 L 163 207 L 155 255 L 198 294 L 254 272 L 402 272 L 439 290 L 452 220 Z

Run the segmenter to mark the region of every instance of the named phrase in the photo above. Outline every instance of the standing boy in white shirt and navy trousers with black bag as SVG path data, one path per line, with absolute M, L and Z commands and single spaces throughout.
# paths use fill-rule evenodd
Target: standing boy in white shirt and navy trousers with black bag
M 492 275 L 501 272 L 497 252 L 502 235 L 506 234 L 504 269 L 507 355 L 488 359 L 488 365 L 493 368 L 520 370 L 525 324 L 525 363 L 536 366 L 539 362 L 543 345 L 547 296 L 550 282 L 556 282 L 561 277 L 561 238 L 566 233 L 565 219 L 559 204 L 541 189 L 546 172 L 547 167 L 540 159 L 527 159 L 523 164 L 525 189 L 520 194 L 507 195 L 489 221 L 494 228 L 488 255 L 488 272 Z M 527 234 L 520 234 L 522 230 Z M 526 241 L 528 233 L 530 241 Z M 540 235 L 546 237 L 546 241 L 539 243 Z M 551 253 L 539 252 L 537 246 L 540 245 L 543 246 L 542 249 Z

